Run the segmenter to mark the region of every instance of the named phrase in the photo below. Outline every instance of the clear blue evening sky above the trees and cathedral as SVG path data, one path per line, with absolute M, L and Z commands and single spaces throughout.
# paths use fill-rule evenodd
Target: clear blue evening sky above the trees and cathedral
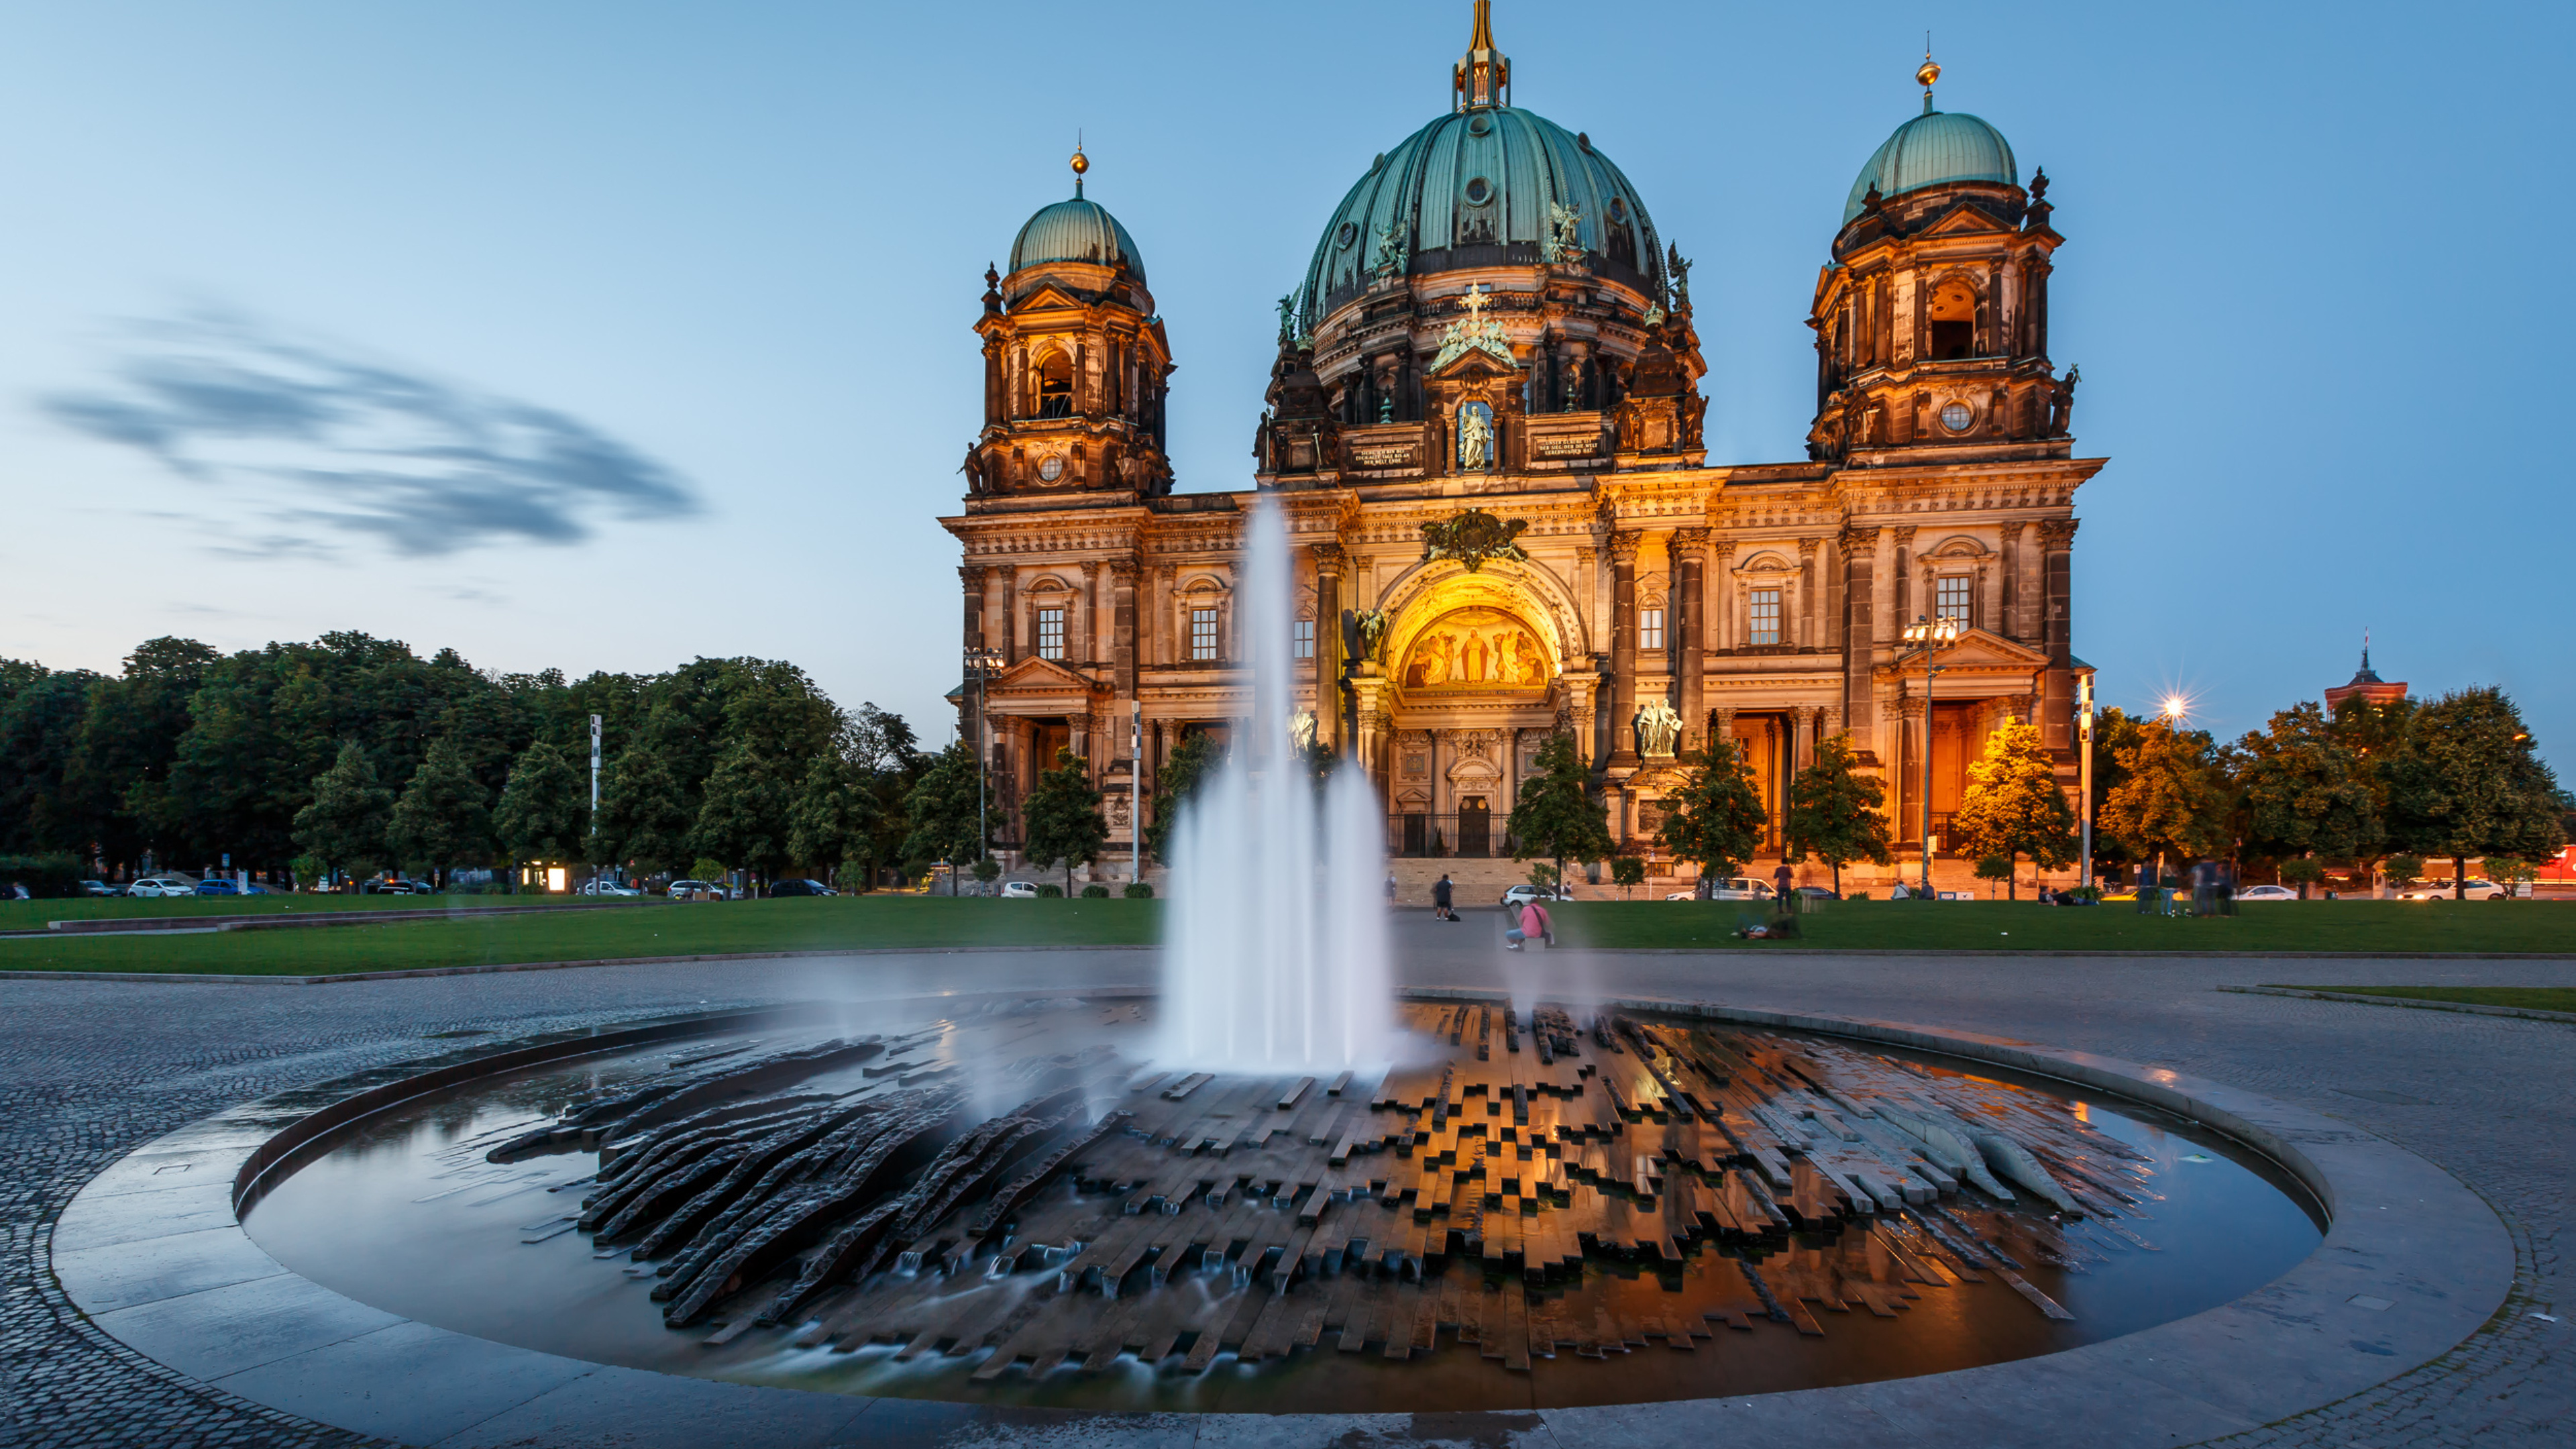
M 2069 237 L 2102 699 L 2236 735 L 2367 627 L 2383 676 L 2501 683 L 2568 758 L 2540 263 L 2576 10 L 1494 10 L 1515 101 L 1698 263 L 1710 462 L 1801 456 L 1816 266 L 1929 26 L 1942 106 L 2048 168 Z M 930 740 L 981 271 L 1074 131 L 1170 322 L 1180 487 L 1244 487 L 1275 299 L 1468 31 L 1466 0 L 0 13 L 0 655 L 770 655 Z

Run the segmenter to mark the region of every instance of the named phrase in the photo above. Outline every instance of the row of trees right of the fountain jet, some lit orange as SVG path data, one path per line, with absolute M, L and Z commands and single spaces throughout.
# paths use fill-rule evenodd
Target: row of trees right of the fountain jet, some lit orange
M 2221 859 L 2272 871 L 2303 895 L 2334 864 L 2403 884 L 2427 859 L 2447 859 L 2452 879 L 2478 859 L 2494 879 L 2530 879 L 2576 833 L 2576 799 L 2558 789 L 2499 688 L 2429 704 L 2349 699 L 2334 714 L 2298 704 L 2233 745 L 2107 709 L 2092 755 L 2094 864 L 2110 869 Z M 1734 740 L 1682 763 L 1682 789 L 1654 841 L 1708 877 L 1731 877 L 1770 833 L 1752 763 Z M 1643 879 L 1638 861 L 1615 859 L 1607 807 L 1574 737 L 1551 737 L 1535 766 L 1510 817 L 1520 859 L 1553 861 L 1558 879 L 1566 861 L 1613 861 L 1623 884 Z M 1842 866 L 1893 861 L 1886 784 L 1865 773 L 1850 735 L 1819 740 L 1814 763 L 1790 776 L 1780 825 L 1785 859 L 1821 861 L 1837 892 Z M 2038 724 L 2007 719 L 1986 737 L 1947 846 L 2007 892 L 2022 859 L 2043 871 L 2076 861 L 2076 812 Z

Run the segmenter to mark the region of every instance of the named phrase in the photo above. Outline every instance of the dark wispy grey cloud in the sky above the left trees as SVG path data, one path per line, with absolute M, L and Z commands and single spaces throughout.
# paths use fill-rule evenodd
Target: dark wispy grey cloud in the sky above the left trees
M 680 518 L 688 482 L 608 433 L 533 402 L 283 338 L 240 317 L 139 327 L 111 384 L 44 397 L 59 423 L 214 485 L 219 552 L 312 557 L 319 536 L 397 554 L 577 544 L 603 518 Z

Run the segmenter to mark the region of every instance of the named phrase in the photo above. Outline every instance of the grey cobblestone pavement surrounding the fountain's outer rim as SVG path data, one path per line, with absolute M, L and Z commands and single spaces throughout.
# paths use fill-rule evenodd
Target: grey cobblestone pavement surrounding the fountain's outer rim
M 2218 993 L 2215 985 L 2576 985 L 2566 962 L 2009 957 L 1502 957 L 1499 918 L 1406 915 L 1409 985 L 1728 1000 L 1942 1024 L 2197 1073 L 2378 1132 L 2481 1191 L 2517 1240 L 2514 1297 L 2424 1369 L 2228 1444 L 2568 1444 L 2576 1026 Z M 729 962 L 332 987 L 0 982 L 0 1444 L 358 1444 L 196 1385 L 90 1328 L 46 1271 L 54 1217 L 134 1145 L 242 1098 L 459 1047 L 690 1008 L 922 990 L 1151 985 L 1144 954 Z M 440 1036 L 448 1034 L 448 1036 Z M 2548 1312 L 2561 1323 L 2532 1318 Z

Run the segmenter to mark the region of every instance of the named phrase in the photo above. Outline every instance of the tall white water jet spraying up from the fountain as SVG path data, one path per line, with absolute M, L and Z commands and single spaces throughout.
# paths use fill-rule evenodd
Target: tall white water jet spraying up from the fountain
M 1345 763 L 1319 792 L 1298 758 L 1278 508 L 1255 505 L 1244 559 L 1252 719 L 1172 830 L 1162 1060 L 1239 1073 L 1378 1065 L 1394 1049 L 1386 820 L 1360 768 Z M 1329 691 L 1321 704 L 1332 709 Z

